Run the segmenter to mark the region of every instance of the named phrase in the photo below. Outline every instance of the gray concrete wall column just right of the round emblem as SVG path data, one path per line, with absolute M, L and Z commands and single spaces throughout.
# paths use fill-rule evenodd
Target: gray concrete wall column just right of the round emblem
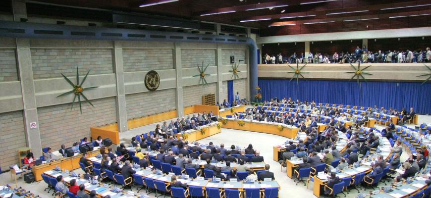
M 183 73 L 181 64 L 181 44 L 175 43 L 175 49 L 173 50 L 173 67 L 175 68 L 176 74 L 176 112 L 177 116 L 184 116 L 184 101 L 183 101 Z

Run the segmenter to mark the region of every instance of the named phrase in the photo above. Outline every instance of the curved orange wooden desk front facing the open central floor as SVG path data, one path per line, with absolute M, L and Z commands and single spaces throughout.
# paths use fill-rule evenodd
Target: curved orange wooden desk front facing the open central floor
M 229 120 L 229 119 L 227 120 L 227 123 L 222 124 L 221 127 L 228 128 L 228 129 L 243 130 L 243 131 L 268 133 L 268 134 L 283 136 L 290 139 L 294 139 L 299 130 L 299 128 L 296 128 L 296 127 L 291 129 L 288 127 L 284 127 L 282 131 L 279 131 L 277 128 L 277 125 L 258 123 L 258 122 L 245 122 L 244 126 L 239 126 L 238 120 Z

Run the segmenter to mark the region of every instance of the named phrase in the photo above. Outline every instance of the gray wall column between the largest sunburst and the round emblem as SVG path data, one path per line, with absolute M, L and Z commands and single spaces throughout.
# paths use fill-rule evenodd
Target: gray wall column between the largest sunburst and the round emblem
M 123 49 L 119 42 L 114 41 L 112 51 L 112 64 L 115 71 L 116 92 L 115 109 L 117 116 L 118 132 L 127 131 L 127 109 L 126 95 L 124 90 L 124 71 L 123 71 Z

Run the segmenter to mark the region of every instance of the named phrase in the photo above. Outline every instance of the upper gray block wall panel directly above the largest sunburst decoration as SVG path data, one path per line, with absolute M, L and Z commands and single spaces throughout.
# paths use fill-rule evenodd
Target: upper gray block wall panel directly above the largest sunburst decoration
M 111 49 L 31 49 L 31 60 L 34 79 L 113 73 Z

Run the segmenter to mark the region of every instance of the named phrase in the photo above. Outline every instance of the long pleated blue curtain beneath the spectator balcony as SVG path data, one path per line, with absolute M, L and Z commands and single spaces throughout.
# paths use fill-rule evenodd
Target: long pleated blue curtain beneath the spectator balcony
M 361 82 L 289 79 L 259 79 L 263 100 L 292 97 L 301 101 L 360 106 L 413 107 L 421 114 L 431 113 L 431 83 Z

